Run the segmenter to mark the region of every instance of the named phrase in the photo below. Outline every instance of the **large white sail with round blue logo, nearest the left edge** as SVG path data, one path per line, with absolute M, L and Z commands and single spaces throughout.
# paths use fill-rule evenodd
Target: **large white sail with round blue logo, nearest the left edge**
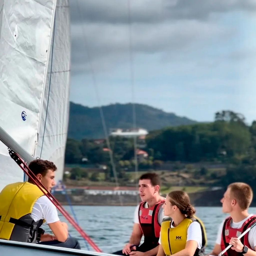
M 5 0 L 1 13 L 0 126 L 31 155 L 38 141 L 55 8 L 56 0 Z M 2 143 L 0 162 L 0 190 L 23 180 Z

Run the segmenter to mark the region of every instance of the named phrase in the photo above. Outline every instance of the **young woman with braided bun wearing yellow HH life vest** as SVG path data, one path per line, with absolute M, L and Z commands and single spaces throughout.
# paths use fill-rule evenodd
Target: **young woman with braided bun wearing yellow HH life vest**
M 164 219 L 161 225 L 157 256 L 200 256 L 206 246 L 204 224 L 194 216 L 189 196 L 184 191 L 172 191 L 163 205 Z

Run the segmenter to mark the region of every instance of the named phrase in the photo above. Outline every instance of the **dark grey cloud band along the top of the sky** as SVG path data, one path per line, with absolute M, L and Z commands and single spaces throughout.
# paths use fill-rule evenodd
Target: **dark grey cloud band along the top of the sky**
M 72 0 L 70 2 L 72 23 L 81 23 L 82 20 L 83 22 L 96 23 L 129 23 L 127 0 Z M 130 0 L 130 6 L 131 21 L 133 23 L 161 23 L 165 20 L 202 20 L 208 18 L 212 13 L 254 12 L 256 10 L 256 1 Z

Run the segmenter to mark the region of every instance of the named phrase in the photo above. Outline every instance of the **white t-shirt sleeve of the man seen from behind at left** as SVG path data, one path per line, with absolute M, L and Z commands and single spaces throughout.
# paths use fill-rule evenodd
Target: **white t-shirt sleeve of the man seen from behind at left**
M 41 196 L 36 200 L 32 208 L 31 217 L 34 221 L 45 219 L 47 224 L 60 220 L 56 207 L 47 196 Z

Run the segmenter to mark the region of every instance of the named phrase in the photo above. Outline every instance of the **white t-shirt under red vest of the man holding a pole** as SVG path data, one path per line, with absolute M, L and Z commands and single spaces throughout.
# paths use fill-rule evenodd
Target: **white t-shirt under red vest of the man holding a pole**
M 246 221 L 250 217 L 252 217 L 252 214 L 250 214 L 247 218 L 245 218 L 242 221 L 239 221 L 239 222 L 231 221 L 231 224 L 230 224 L 231 228 L 241 228 L 244 221 Z M 216 239 L 217 244 L 221 244 L 222 228 L 223 228 L 224 222 L 225 222 L 225 220 L 223 220 L 222 223 L 219 226 L 219 230 L 218 230 L 218 233 L 217 233 L 217 239 Z M 256 229 L 255 228 L 252 228 L 249 231 L 248 240 L 249 240 L 251 248 L 254 249 L 255 246 L 256 246 Z

